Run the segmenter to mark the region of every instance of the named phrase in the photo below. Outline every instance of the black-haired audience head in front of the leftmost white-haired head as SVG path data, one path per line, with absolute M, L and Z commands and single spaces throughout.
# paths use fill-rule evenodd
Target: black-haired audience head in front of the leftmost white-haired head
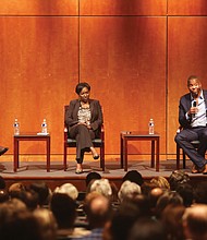
M 53 193 L 50 209 L 58 223 L 59 229 L 73 229 L 76 218 L 76 203 L 66 193 Z

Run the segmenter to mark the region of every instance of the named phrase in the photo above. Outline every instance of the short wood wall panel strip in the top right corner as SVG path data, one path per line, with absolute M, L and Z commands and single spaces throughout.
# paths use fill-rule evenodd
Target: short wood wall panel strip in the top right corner
M 207 1 L 168 0 L 168 15 L 207 15 Z

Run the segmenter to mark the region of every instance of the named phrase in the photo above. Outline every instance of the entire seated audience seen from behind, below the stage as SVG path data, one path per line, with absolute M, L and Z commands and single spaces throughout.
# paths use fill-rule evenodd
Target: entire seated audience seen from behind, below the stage
M 203 240 L 206 229 L 207 182 L 192 185 L 182 170 L 146 181 L 132 170 L 119 188 L 89 172 L 82 201 L 70 182 L 52 192 L 44 181 L 5 188 L 0 178 L 2 240 Z

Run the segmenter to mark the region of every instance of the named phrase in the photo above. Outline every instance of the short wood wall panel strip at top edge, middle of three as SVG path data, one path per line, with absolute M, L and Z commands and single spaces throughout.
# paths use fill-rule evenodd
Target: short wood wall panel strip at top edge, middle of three
M 166 0 L 81 0 L 81 15 L 166 15 Z

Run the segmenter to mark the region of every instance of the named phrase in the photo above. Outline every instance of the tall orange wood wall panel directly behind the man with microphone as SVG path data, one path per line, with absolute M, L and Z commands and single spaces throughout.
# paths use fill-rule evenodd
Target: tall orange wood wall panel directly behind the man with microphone
M 179 99 L 187 93 L 186 80 L 199 75 L 207 88 L 207 17 L 169 17 L 168 36 L 168 153 L 175 153 Z M 192 31 L 193 29 L 193 31 Z

